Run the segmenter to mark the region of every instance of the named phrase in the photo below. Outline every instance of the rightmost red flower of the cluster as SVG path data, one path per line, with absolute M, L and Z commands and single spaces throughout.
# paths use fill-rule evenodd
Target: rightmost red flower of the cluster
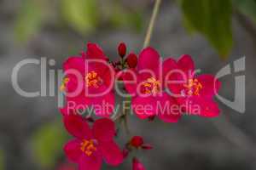
M 168 83 L 168 88 L 177 95 L 179 105 L 183 105 L 183 111 L 192 115 L 218 116 L 218 105 L 212 100 L 218 92 L 221 83 L 216 77 L 204 74 L 195 74 L 194 61 L 189 55 L 183 55 L 177 62 L 174 59 L 166 59 L 166 71 L 177 71 L 169 77 L 169 81 L 183 81 L 182 83 Z

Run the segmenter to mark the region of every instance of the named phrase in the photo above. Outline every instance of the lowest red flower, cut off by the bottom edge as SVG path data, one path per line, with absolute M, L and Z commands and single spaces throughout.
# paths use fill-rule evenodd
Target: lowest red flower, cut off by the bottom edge
M 123 161 L 122 150 L 113 141 L 115 126 L 108 118 L 96 120 L 92 129 L 81 116 L 64 116 L 67 131 L 76 139 L 69 141 L 65 153 L 70 161 L 79 164 L 79 170 L 98 170 L 102 159 L 118 166 Z

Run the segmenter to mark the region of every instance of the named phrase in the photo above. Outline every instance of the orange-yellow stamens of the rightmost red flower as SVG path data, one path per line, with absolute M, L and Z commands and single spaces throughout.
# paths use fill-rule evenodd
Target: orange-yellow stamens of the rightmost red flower
M 199 82 L 196 78 L 189 78 L 188 83 L 183 84 L 183 87 L 187 88 L 187 94 L 189 95 L 199 95 L 201 88 L 203 88 L 201 82 Z

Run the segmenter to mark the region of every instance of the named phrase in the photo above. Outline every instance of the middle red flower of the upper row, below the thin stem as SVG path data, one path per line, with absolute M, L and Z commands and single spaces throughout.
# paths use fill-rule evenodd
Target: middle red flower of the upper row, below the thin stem
M 176 100 L 164 91 L 160 66 L 165 71 L 157 51 L 154 48 L 143 49 L 137 68 L 125 71 L 123 75 L 125 89 L 132 96 L 131 105 L 139 118 L 159 116 L 164 122 L 177 122 L 181 114 L 171 110 Z M 164 109 L 166 105 L 169 106 Z

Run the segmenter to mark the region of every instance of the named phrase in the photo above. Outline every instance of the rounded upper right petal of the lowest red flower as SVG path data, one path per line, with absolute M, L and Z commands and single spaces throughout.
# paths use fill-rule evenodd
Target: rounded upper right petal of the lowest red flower
M 108 118 L 96 120 L 93 124 L 94 137 L 99 141 L 112 141 L 115 135 L 114 122 Z

